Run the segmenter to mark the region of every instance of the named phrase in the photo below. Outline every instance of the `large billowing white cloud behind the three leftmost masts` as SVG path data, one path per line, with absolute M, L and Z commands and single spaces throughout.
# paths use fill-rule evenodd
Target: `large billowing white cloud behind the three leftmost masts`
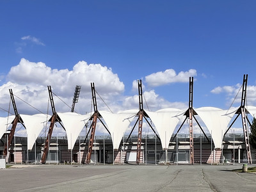
M 58 95 L 58 98 L 55 97 L 54 99 L 54 104 L 59 112 L 70 110 L 69 106 L 72 104 L 76 85 L 81 85 L 82 88 L 79 104 L 76 105 L 75 110 L 83 114 L 91 111 L 92 93 L 90 83 L 95 83 L 96 92 L 100 94 L 102 99 L 106 99 L 106 103 L 116 103 L 115 96 L 122 95 L 124 92 L 124 83 L 120 81 L 117 74 L 113 74 L 111 68 L 100 64 L 88 64 L 85 61 L 79 61 L 72 70 L 58 70 L 47 67 L 45 63 L 35 63 L 22 58 L 19 65 L 10 69 L 6 80 L 7 83 L 0 86 L 0 106 L 4 109 L 6 109 L 10 100 L 8 91 L 10 88 L 13 89 L 13 93 L 17 97 L 44 111 L 44 113 L 49 107 L 48 85 L 51 85 L 52 92 Z M 16 100 L 20 110 L 19 113 L 38 113 L 21 100 Z M 97 100 L 100 100 L 100 98 L 98 97 Z M 99 104 L 105 106 L 103 102 L 99 101 Z

